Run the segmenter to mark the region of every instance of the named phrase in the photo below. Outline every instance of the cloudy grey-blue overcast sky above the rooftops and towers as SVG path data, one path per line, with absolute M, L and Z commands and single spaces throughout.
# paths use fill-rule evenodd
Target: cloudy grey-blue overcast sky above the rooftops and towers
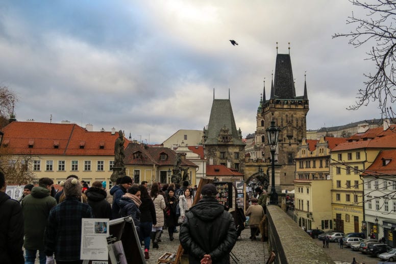
M 377 104 L 348 111 L 362 87 L 369 47 L 355 49 L 345 0 L 2 1 L 0 85 L 19 97 L 19 121 L 68 120 L 161 143 L 202 130 L 213 101 L 228 99 L 245 137 L 256 130 L 265 78 L 290 56 L 307 129 L 380 118 Z M 362 10 L 355 10 L 355 14 Z M 235 39 L 239 45 L 231 45 Z

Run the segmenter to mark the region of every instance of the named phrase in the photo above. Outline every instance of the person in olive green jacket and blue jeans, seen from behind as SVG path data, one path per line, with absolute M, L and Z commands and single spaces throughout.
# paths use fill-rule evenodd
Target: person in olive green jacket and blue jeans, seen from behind
M 33 187 L 31 194 L 21 201 L 24 218 L 25 264 L 35 263 L 37 250 L 40 264 L 45 264 L 44 230 L 51 209 L 57 205 L 55 198 L 50 195 L 54 181 L 50 178 L 41 178 L 38 185 Z

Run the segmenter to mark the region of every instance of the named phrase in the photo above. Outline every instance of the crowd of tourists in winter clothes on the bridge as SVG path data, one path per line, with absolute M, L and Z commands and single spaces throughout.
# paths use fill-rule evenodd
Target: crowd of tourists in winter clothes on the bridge
M 27 184 L 22 198 L 16 201 L 5 193 L 7 183 L 0 171 L 2 263 L 33 264 L 37 254 L 40 264 L 82 263 L 83 218 L 131 217 L 144 245 L 145 259 L 150 258 L 150 245 L 160 248 L 164 230 L 166 239 L 173 241 L 180 226 L 180 243 L 190 263 L 229 263 L 229 254 L 240 234 L 231 213 L 216 200 L 213 184 L 202 187 L 202 197 L 194 206 L 193 188 L 188 181 L 182 186 L 153 183 L 149 189 L 147 182 L 133 183 L 131 177 L 124 176 L 106 189 L 106 182 L 95 181 L 88 186 L 78 176 L 70 175 L 60 183 L 63 189 L 57 193 L 52 191 L 53 185 L 50 178 L 39 179 L 38 186 Z M 259 234 L 266 200 L 265 190 L 256 188 L 246 210 L 252 240 Z M 207 234 L 211 234 L 209 240 Z

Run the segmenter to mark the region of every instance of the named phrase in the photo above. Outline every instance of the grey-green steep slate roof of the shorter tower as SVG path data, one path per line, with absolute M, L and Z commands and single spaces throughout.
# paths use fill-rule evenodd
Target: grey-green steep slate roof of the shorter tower
M 229 99 L 214 99 L 210 111 L 209 125 L 206 131 L 205 145 L 220 145 L 217 137 L 220 130 L 226 127 L 232 134 L 232 145 L 245 145 L 238 135 Z

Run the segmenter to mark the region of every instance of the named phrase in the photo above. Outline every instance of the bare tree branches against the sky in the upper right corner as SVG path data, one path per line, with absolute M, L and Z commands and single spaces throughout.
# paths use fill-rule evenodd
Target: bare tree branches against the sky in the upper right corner
M 391 105 L 396 101 L 396 2 L 375 0 L 369 3 L 360 0 L 349 0 L 352 5 L 364 9 L 366 16 L 357 17 L 352 13 L 347 24 L 356 25 L 350 33 L 336 33 L 332 37 L 349 37 L 349 43 L 355 47 L 368 46 L 366 60 L 375 63 L 375 73 L 364 74 L 367 80 L 359 89 L 354 105 L 347 109 L 357 110 L 371 101 L 379 104 L 382 117 L 395 117 Z M 373 45 L 374 42 L 374 45 Z

